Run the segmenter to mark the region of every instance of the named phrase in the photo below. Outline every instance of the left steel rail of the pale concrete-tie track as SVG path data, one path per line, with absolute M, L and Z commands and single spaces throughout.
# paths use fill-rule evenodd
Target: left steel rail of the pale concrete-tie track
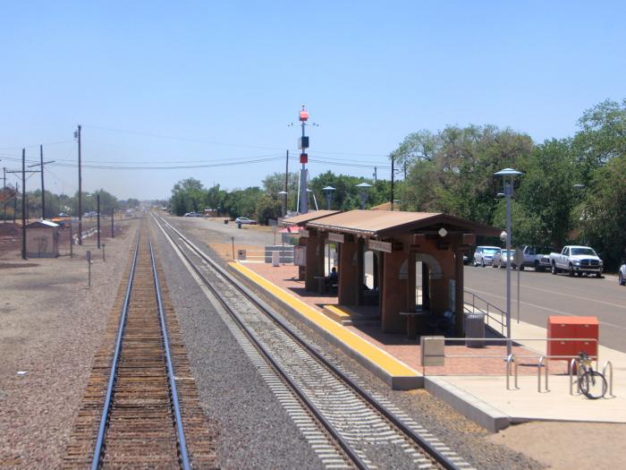
M 165 221 L 164 221 L 165 222 Z M 167 222 L 165 222 L 167 223 Z M 169 224 L 168 224 L 169 225 Z M 175 230 L 175 229 L 174 229 Z M 173 240 L 173 237 L 171 235 L 168 235 L 165 231 L 164 231 L 165 235 L 167 235 L 170 240 L 172 240 L 173 244 L 176 244 L 176 242 Z M 177 245 L 177 244 L 176 244 Z M 178 245 L 177 245 L 178 246 Z M 180 250 L 180 247 L 179 247 Z M 269 361 L 269 363 L 272 365 L 272 367 L 274 368 L 274 370 L 276 372 L 278 372 L 280 374 L 280 376 L 283 378 L 283 380 L 285 380 L 285 382 L 287 382 L 287 384 L 289 385 L 289 387 L 292 388 L 292 390 L 295 392 L 295 394 L 300 398 L 300 400 L 305 404 L 305 406 L 307 406 L 309 408 L 309 410 L 311 411 L 312 414 L 315 415 L 315 417 L 317 418 L 317 420 L 322 423 L 322 425 L 326 428 L 326 431 L 333 437 L 334 440 L 337 441 L 337 443 L 339 443 L 339 446 L 343 449 L 343 451 L 345 452 L 345 454 L 351 459 L 352 463 L 354 463 L 354 465 L 359 468 L 360 470 L 366 470 L 368 469 L 368 466 L 365 464 L 365 462 L 363 462 L 363 460 L 354 452 L 354 450 L 351 448 L 351 445 L 343 439 L 343 437 L 341 436 L 341 434 L 334 428 L 334 425 L 332 423 L 330 423 L 327 419 L 326 416 L 319 410 L 319 408 L 309 399 L 309 397 L 307 397 L 307 395 L 304 393 L 304 391 L 302 391 L 302 389 L 300 389 L 300 387 L 298 386 L 298 384 L 296 384 L 292 378 L 289 376 L 289 374 L 283 369 L 283 367 L 276 361 L 274 355 L 272 355 L 272 353 L 270 353 L 266 346 L 263 346 L 260 342 L 260 340 L 257 338 L 257 335 L 248 327 L 245 325 L 245 323 L 241 320 L 240 316 L 233 311 L 233 309 L 230 307 L 230 305 L 228 305 L 228 303 L 224 300 L 224 298 L 222 297 L 222 295 L 220 295 L 215 286 L 213 286 L 209 280 L 204 276 L 204 274 L 202 274 L 202 272 L 199 270 L 199 268 L 196 266 L 196 264 L 190 260 L 190 257 L 187 255 L 187 253 L 183 252 L 182 250 L 180 250 L 182 256 L 185 258 L 185 260 L 187 260 L 191 266 L 191 268 L 193 268 L 196 273 L 198 274 L 199 278 L 202 279 L 202 281 L 204 282 L 204 284 L 211 290 L 211 292 L 213 293 L 213 295 L 215 295 L 216 299 L 219 301 L 219 303 L 222 304 L 222 306 L 224 307 L 224 310 L 226 312 L 228 312 L 228 314 L 231 316 L 231 318 L 237 323 L 237 325 L 239 326 L 239 328 L 245 333 L 245 335 L 250 339 L 250 341 L 252 342 L 252 344 L 258 348 L 258 350 L 262 353 L 262 355 L 265 355 L 267 361 Z

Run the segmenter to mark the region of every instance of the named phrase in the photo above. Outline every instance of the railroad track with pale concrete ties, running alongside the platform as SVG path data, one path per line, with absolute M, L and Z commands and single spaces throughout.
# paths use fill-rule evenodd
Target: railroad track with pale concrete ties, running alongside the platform
M 327 468 L 471 468 L 419 423 L 326 360 L 319 346 L 165 218 L 153 214 L 153 219 L 210 289 L 216 310 L 224 312 L 224 322 Z

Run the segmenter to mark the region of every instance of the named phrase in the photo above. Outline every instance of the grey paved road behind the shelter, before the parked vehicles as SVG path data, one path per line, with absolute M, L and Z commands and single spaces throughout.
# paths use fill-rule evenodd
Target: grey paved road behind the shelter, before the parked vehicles
M 517 271 L 511 273 L 512 337 L 517 319 Z M 506 270 L 465 268 L 465 288 L 505 310 Z M 546 328 L 550 315 L 596 316 L 600 343 L 626 352 L 626 287 L 616 278 L 570 278 L 527 269 L 520 272 L 520 320 Z

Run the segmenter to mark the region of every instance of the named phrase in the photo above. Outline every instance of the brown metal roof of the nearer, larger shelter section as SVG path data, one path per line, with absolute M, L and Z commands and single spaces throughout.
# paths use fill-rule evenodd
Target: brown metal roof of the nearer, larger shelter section
M 377 236 L 398 229 L 416 230 L 443 224 L 478 235 L 500 235 L 494 226 L 446 216 L 440 212 L 396 212 L 391 210 L 350 210 L 310 221 L 307 226 L 334 232 Z

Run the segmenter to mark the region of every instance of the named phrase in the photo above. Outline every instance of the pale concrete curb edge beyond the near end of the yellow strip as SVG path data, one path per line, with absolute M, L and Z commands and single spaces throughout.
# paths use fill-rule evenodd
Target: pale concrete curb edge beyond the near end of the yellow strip
M 443 377 L 424 377 L 424 388 L 441 398 L 469 420 L 485 428 L 488 432 L 498 432 L 513 423 L 511 416 L 504 414 L 494 406 L 459 389 Z

